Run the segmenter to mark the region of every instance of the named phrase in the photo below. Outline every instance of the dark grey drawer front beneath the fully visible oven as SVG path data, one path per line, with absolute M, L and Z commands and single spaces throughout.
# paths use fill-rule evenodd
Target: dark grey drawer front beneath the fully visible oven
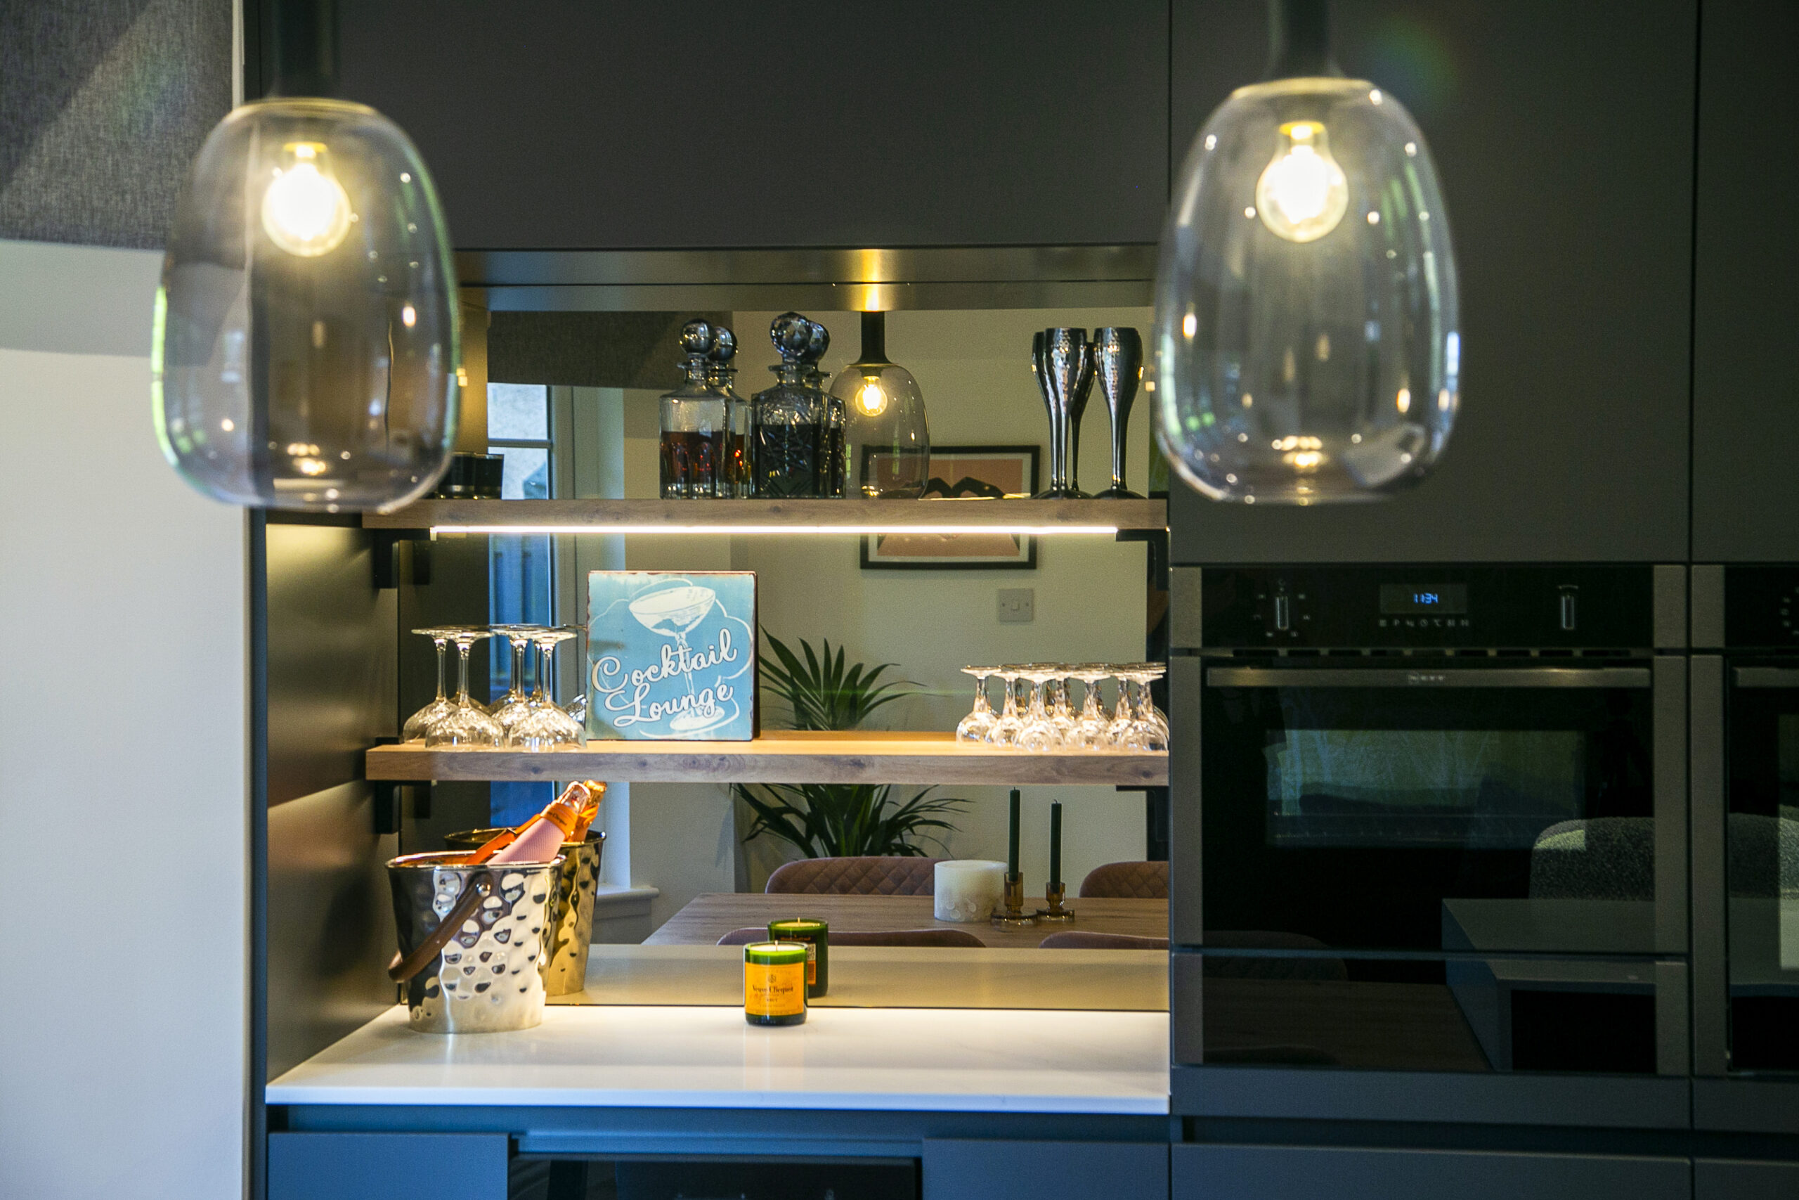
M 1686 1159 L 1175 1146 L 1173 1200 L 1689 1200 Z

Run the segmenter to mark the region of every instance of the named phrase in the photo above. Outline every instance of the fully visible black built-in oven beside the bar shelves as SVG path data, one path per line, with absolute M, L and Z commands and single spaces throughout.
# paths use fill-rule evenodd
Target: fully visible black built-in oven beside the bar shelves
M 1682 569 L 1182 574 L 1193 1061 L 1686 1072 Z

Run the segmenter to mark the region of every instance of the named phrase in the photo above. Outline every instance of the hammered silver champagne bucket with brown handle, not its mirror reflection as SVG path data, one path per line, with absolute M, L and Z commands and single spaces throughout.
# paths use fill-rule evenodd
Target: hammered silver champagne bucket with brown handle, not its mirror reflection
M 543 1020 L 541 963 L 563 860 L 453 865 L 459 858 L 466 853 L 387 864 L 399 932 L 389 975 L 407 986 L 419 1033 L 531 1029 Z

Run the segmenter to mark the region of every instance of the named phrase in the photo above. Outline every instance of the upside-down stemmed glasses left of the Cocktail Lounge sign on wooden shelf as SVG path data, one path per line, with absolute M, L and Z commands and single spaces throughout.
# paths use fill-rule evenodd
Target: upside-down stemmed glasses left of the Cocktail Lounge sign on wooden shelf
M 437 648 L 437 698 L 407 718 L 401 741 L 426 747 L 507 747 L 513 750 L 554 750 L 586 741 L 583 721 L 556 703 L 550 693 L 556 648 L 576 637 L 576 626 L 545 624 L 443 624 L 414 630 Z M 513 684 L 506 694 L 480 703 L 468 694 L 468 657 L 477 642 L 504 637 L 513 646 Z M 444 655 L 457 651 L 457 694 L 444 694 Z M 538 651 L 538 682 L 525 689 L 525 651 Z M 585 712 L 583 712 L 585 716 Z

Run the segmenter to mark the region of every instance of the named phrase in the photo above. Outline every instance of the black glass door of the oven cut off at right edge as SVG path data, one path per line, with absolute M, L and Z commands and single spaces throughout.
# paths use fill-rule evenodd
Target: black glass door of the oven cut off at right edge
M 1799 662 L 1729 675 L 1731 1069 L 1799 1070 Z

